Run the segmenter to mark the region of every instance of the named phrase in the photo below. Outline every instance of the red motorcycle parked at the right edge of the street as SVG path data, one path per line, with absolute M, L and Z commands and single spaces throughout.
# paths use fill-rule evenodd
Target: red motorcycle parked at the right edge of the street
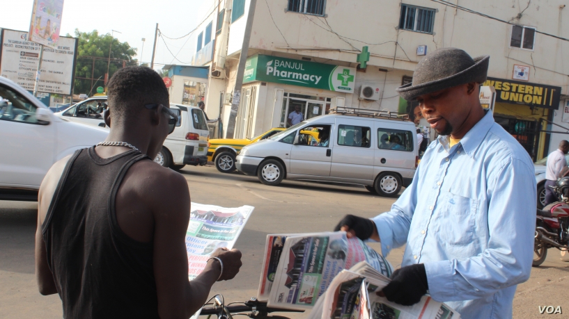
M 561 250 L 562 255 L 569 250 L 569 177 L 563 177 L 556 186 L 549 187 L 553 188 L 560 200 L 536 212 L 533 267 L 545 261 L 549 248 Z

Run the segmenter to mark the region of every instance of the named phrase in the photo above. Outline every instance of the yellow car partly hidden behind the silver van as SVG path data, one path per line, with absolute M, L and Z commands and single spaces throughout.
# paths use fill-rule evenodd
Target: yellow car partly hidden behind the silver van
M 222 173 L 230 173 L 235 170 L 235 156 L 239 154 L 242 147 L 265 138 L 270 138 L 274 134 L 284 131 L 284 127 L 274 127 L 254 138 L 214 138 L 210 140 L 208 149 L 208 161 L 215 161 L 215 167 Z M 318 132 L 306 132 L 318 140 Z

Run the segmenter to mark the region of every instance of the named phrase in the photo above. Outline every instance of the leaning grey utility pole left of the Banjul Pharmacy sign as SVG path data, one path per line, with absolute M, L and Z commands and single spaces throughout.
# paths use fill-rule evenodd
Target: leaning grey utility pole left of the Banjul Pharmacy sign
M 233 138 L 235 135 L 235 117 L 239 110 L 241 101 L 241 87 L 243 85 L 243 74 L 245 72 L 245 63 L 247 63 L 247 55 L 249 53 L 249 40 L 251 40 L 251 28 L 253 28 L 253 17 L 255 15 L 255 7 L 257 0 L 251 0 L 249 3 L 249 14 L 247 15 L 247 24 L 245 24 L 245 35 L 239 56 L 239 65 L 237 66 L 237 79 L 235 79 L 235 88 L 233 89 L 233 99 L 231 101 L 231 112 L 227 123 L 226 138 Z

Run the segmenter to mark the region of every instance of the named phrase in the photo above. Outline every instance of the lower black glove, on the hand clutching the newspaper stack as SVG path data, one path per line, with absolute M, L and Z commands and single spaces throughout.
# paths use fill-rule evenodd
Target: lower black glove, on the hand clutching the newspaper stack
M 382 293 L 390 302 L 411 306 L 421 300 L 428 288 L 425 265 L 419 263 L 394 271 L 391 282 L 383 288 Z

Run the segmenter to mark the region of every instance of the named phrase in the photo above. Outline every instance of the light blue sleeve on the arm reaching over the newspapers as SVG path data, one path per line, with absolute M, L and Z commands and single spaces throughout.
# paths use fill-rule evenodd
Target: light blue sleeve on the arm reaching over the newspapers
M 411 220 L 417 203 L 417 175 L 421 165 L 415 171 L 411 185 L 405 188 L 403 194 L 391 206 L 391 211 L 372 218 L 380 235 L 382 255 L 387 256 L 393 248 L 407 243 Z

